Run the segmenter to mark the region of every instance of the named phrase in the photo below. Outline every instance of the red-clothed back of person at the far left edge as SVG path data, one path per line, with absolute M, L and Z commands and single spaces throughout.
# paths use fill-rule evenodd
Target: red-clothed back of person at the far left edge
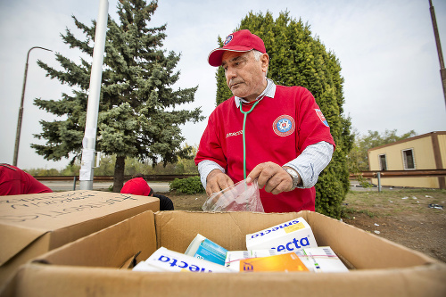
M 0 164 L 0 196 L 53 193 L 28 172 L 9 164 Z

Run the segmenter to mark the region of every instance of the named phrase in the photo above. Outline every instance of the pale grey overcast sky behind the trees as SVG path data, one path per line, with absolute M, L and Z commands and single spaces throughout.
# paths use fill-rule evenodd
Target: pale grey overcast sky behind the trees
M 164 48 L 181 53 L 181 76 L 175 87 L 198 87 L 195 102 L 208 117 L 215 107 L 215 71 L 207 63 L 217 47 L 248 12 L 279 12 L 310 24 L 328 50 L 341 62 L 344 78 L 344 111 L 353 128 L 384 132 L 397 129 L 417 134 L 446 130 L 446 105 L 440 64 L 428 0 L 290 0 L 276 1 L 178 1 L 159 0 L 150 27 L 167 23 Z M 446 48 L 446 1 L 433 0 L 443 53 Z M 115 20 L 117 0 L 109 1 Z M 12 163 L 21 89 L 29 48 L 42 46 L 78 61 L 79 52 L 62 43 L 60 34 L 70 28 L 78 37 L 71 15 L 90 25 L 97 18 L 99 0 L 0 0 L 0 162 Z M 268 50 L 268 49 L 267 49 Z M 446 54 L 446 53 L 445 53 Z M 44 144 L 33 134 L 41 132 L 39 120 L 53 115 L 39 111 L 34 98 L 57 100 L 70 87 L 46 78 L 37 60 L 61 69 L 54 53 L 34 49 L 29 56 L 21 145 L 22 169 L 62 169 L 68 160 L 45 161 L 29 144 Z M 187 124 L 187 144 L 198 144 L 206 121 Z

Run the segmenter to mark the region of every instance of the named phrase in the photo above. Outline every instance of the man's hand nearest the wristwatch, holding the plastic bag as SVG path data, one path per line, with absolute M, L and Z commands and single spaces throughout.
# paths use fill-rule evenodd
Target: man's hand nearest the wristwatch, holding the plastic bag
M 250 179 L 251 178 L 251 179 Z M 280 165 L 273 162 L 260 163 L 248 175 L 247 182 L 259 178 L 259 188 L 272 194 L 291 191 L 293 178 Z

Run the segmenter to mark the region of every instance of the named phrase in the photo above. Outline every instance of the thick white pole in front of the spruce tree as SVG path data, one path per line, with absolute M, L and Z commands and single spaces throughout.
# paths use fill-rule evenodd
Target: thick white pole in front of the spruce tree
M 81 190 L 93 190 L 93 165 L 95 161 L 97 115 L 99 97 L 101 95 L 101 79 L 103 77 L 103 52 L 107 33 L 109 2 L 100 0 L 96 21 L 95 47 L 90 75 L 90 94 L 88 95 L 87 120 L 84 139 L 82 140 L 82 160 L 79 170 L 79 186 Z

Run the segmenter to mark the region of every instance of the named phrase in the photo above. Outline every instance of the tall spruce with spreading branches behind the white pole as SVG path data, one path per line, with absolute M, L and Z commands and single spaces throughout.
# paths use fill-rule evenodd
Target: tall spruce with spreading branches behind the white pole
M 162 40 L 166 25 L 149 28 L 158 4 L 144 0 L 120 0 L 119 23 L 109 17 L 103 59 L 103 78 L 98 114 L 96 151 L 116 155 L 113 191 L 119 192 L 124 181 L 126 157 L 142 161 L 159 161 L 165 166 L 178 157 L 193 158 L 191 148 L 181 148 L 185 140 L 179 126 L 186 121 L 203 120 L 199 108 L 193 111 L 176 110 L 176 105 L 194 102 L 197 87 L 173 90 L 178 81 L 175 71 L 180 55 L 166 53 Z M 86 38 L 77 39 L 67 29 L 61 35 L 71 48 L 93 56 L 95 21 L 91 27 L 72 17 Z M 66 120 L 41 120 L 43 132 L 36 135 L 46 144 L 32 144 L 47 160 L 60 160 L 69 153 L 80 156 L 87 115 L 87 91 L 91 63 L 80 64 L 56 54 L 63 70 L 55 70 L 44 62 L 38 65 L 47 76 L 76 87 L 72 95 L 62 94 L 60 100 L 36 99 L 35 104 L 45 111 L 64 116 Z

